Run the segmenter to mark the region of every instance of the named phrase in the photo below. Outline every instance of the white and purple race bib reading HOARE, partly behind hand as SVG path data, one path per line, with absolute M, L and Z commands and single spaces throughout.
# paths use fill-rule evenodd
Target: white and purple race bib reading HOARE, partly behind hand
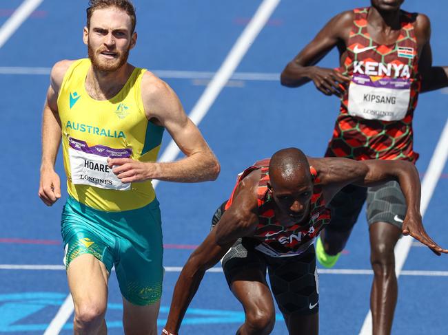
M 104 145 L 89 147 L 81 140 L 68 138 L 72 183 L 109 190 L 128 191 L 131 184 L 123 184 L 108 166 L 108 158 L 130 158 L 131 149 L 112 149 Z

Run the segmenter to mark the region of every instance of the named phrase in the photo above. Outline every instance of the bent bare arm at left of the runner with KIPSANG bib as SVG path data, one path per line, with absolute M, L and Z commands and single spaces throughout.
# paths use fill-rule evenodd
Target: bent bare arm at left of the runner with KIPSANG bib
M 349 83 L 350 78 L 334 69 L 314 66 L 333 47 L 340 54 L 345 51 L 346 41 L 352 28 L 353 12 L 342 12 L 332 18 L 316 37 L 290 61 L 281 74 L 281 83 L 287 87 L 299 87 L 313 80 L 316 88 L 326 95 L 340 96 L 340 84 Z

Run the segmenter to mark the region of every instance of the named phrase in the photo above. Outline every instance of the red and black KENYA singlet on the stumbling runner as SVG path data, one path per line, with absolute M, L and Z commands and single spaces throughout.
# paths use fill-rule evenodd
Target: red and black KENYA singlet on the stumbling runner
M 309 221 L 306 224 L 294 224 L 285 227 L 276 219 L 275 202 L 272 191 L 267 187 L 269 182 L 269 161 L 260 160 L 239 175 L 234 191 L 225 205 L 229 208 L 233 202 L 234 192 L 239 182 L 254 170 L 261 169 L 258 183 L 258 226 L 254 235 L 244 237 L 254 242 L 255 248 L 271 257 L 289 257 L 301 255 L 314 243 L 320 230 L 329 223 L 330 210 L 325 207 L 322 186 L 316 170 L 310 166 L 309 170 L 314 180 L 314 190 L 309 207 Z

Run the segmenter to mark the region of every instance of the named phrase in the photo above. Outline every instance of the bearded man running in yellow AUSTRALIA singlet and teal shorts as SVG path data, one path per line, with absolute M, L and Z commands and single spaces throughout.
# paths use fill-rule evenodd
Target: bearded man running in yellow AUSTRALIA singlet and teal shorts
M 106 334 L 108 277 L 116 269 L 126 334 L 156 334 L 162 290 L 159 203 L 151 180 L 214 180 L 219 164 L 174 91 L 128 63 L 136 44 L 128 0 L 91 0 L 89 58 L 60 61 L 43 109 L 39 197 L 61 197 L 54 162 L 62 138 L 69 198 L 61 232 L 74 333 Z M 163 129 L 186 157 L 156 163 Z

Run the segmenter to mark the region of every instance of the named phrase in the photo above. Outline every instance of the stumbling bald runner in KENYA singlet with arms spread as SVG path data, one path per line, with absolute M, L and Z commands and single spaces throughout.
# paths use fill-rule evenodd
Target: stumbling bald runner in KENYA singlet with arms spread
M 420 180 L 413 164 L 309 158 L 299 149 L 283 149 L 238 175 L 229 200 L 213 215 L 212 231 L 183 267 L 163 334 L 179 334 L 205 270 L 220 259 L 229 288 L 245 312 L 237 335 L 270 334 L 274 299 L 290 335 L 318 334 L 313 241 L 329 222 L 327 204 L 347 184 L 369 186 L 388 180 L 400 183 L 409 204 L 405 233 L 416 234 L 439 255 L 448 252 L 431 241 L 422 227 L 416 210 Z

